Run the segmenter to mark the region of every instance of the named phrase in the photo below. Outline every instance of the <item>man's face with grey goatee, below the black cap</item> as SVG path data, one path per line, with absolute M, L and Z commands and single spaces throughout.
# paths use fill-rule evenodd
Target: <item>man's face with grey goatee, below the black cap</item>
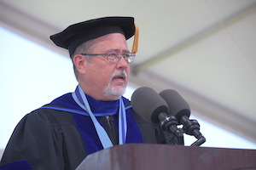
M 90 46 L 93 54 L 107 54 L 128 52 L 125 36 L 120 33 L 112 33 L 98 37 Z M 84 62 L 84 82 L 79 82 L 85 94 L 94 99 L 114 100 L 119 99 L 125 93 L 130 77 L 130 65 L 123 57 L 118 62 L 112 63 L 106 56 L 90 56 L 90 62 Z

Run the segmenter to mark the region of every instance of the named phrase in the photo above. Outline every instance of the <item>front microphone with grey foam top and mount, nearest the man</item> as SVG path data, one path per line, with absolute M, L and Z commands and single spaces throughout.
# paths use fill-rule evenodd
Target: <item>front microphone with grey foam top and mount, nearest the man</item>
M 131 95 L 131 105 L 134 111 L 148 122 L 160 122 L 160 127 L 163 130 L 176 134 L 177 136 L 183 136 L 182 129 L 177 128 L 176 117 L 167 115 L 169 109 L 166 101 L 152 88 L 137 88 Z

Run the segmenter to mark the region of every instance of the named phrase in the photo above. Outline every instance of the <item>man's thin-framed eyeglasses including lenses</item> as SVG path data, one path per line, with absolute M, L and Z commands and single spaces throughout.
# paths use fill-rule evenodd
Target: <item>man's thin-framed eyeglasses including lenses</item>
M 89 55 L 89 56 L 105 55 L 107 60 L 112 63 L 118 62 L 119 59 L 121 59 L 121 57 L 124 57 L 125 61 L 129 64 L 132 63 L 135 59 L 134 53 L 120 54 L 117 52 L 109 52 L 108 54 L 81 54 L 81 55 Z

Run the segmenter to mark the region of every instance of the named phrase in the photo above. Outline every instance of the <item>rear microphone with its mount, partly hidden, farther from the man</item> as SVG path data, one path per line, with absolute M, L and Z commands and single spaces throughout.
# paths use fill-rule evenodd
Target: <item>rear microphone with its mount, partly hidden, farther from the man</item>
M 183 124 L 183 131 L 189 135 L 194 135 L 197 141 L 191 145 L 201 145 L 206 142 L 200 132 L 200 125 L 196 120 L 189 120 L 189 104 L 175 90 L 166 89 L 160 92 L 160 96 L 166 100 L 169 107 L 169 114 L 177 117 L 177 122 Z

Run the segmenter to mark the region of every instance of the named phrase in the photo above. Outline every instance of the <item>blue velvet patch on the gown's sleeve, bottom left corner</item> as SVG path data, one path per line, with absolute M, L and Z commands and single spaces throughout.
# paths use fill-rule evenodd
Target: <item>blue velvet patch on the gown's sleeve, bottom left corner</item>
M 32 166 L 26 160 L 13 161 L 11 163 L 0 166 L 0 170 L 32 170 Z

